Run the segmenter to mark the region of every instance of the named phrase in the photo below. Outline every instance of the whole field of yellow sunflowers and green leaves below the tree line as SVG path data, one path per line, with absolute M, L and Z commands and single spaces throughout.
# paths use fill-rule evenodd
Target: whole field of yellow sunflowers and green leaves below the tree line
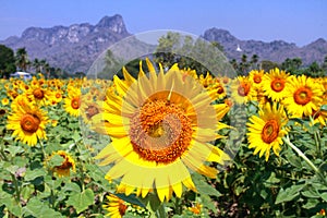
M 0 81 L 0 217 L 326 217 L 327 77 Z

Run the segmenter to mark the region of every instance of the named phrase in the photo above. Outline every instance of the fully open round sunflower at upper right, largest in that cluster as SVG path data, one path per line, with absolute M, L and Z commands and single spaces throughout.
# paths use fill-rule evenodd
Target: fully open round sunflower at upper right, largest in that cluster
M 287 97 L 282 101 L 289 113 L 294 118 L 311 116 L 313 111 L 318 111 L 322 105 L 323 87 L 320 83 L 305 75 L 292 76 Z

